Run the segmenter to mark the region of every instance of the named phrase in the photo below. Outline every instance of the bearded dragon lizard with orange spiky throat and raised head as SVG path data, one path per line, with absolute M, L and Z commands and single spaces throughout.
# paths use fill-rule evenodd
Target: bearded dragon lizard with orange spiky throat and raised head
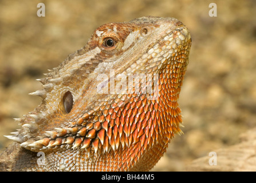
M 98 27 L 37 79 L 42 102 L 0 155 L 5 171 L 148 171 L 182 133 L 178 105 L 191 36 L 178 19 Z M 128 84 L 127 84 L 128 83 Z M 39 154 L 39 155 L 38 155 Z

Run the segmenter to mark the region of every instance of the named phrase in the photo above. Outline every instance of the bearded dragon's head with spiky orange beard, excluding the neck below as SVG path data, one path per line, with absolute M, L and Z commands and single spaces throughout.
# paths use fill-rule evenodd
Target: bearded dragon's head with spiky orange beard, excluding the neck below
M 31 95 L 40 96 L 41 104 L 15 119 L 21 129 L 6 137 L 34 152 L 107 152 L 145 142 L 139 137 L 155 141 L 161 136 L 159 121 L 167 124 L 163 133 L 170 140 L 180 132 L 176 102 L 190 46 L 190 33 L 175 18 L 141 17 L 102 25 L 86 46 L 37 79 L 42 89 Z M 151 89 L 159 90 L 160 97 L 149 100 L 144 93 L 148 84 L 143 87 L 134 77 L 128 87 L 131 74 L 154 81 Z M 160 108 L 166 110 L 161 113 Z

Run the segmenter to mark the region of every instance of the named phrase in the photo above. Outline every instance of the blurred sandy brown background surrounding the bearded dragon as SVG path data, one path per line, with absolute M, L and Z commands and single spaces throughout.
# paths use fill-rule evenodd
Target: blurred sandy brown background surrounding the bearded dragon
M 37 17 L 37 3 L 46 17 Z M 0 149 L 19 128 L 12 118 L 41 99 L 47 69 L 80 49 L 93 30 L 108 22 L 144 15 L 175 17 L 190 30 L 192 48 L 182 93 L 183 136 L 176 136 L 156 171 L 180 171 L 192 160 L 239 142 L 256 127 L 256 1 L 0 1 Z

